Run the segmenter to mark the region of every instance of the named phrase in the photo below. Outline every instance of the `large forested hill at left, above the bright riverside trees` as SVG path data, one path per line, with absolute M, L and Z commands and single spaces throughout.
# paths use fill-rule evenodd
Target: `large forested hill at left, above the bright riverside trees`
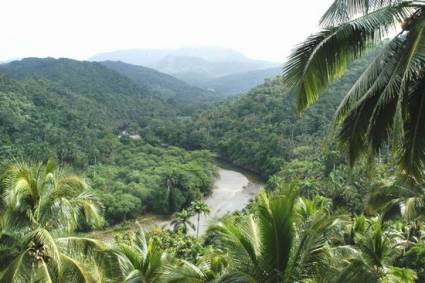
M 119 133 L 157 142 L 152 125 L 187 115 L 158 92 L 99 63 L 29 58 L 1 65 L 0 75 L 4 158 L 50 156 L 86 166 L 108 160 Z

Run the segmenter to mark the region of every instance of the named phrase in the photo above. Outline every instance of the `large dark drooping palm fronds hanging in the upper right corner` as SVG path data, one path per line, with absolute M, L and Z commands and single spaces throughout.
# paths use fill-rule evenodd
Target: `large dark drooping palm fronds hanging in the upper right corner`
M 351 61 L 382 45 L 339 106 L 338 137 L 351 164 L 390 144 L 402 172 L 420 177 L 425 161 L 425 2 L 335 0 L 320 25 L 283 69 L 299 110 L 316 102 Z

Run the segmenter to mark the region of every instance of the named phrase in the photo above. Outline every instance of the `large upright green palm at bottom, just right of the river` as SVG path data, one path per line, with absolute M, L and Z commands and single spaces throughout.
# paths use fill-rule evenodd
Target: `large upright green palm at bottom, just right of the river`
M 332 218 L 296 214 L 295 193 L 261 192 L 255 214 L 226 218 L 209 230 L 230 263 L 222 282 L 299 282 L 330 274 Z M 296 222 L 296 218 L 303 221 Z M 221 282 L 221 281 L 220 281 Z

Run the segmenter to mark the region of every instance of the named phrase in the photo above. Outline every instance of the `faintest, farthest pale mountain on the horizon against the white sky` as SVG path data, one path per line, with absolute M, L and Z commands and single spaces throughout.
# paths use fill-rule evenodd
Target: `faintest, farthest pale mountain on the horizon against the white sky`
M 272 62 L 247 58 L 232 49 L 213 47 L 118 50 L 97 54 L 90 60 L 113 60 L 146 66 L 196 86 L 233 73 L 277 66 Z

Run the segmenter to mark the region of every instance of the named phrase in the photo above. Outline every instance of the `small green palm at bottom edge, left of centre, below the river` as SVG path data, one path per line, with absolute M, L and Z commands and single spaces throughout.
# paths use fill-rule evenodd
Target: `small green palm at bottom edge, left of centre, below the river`
M 124 270 L 124 282 L 156 282 L 166 260 L 160 246 L 153 239 L 146 240 L 140 228 L 128 243 L 118 242 L 115 250 L 120 256 L 120 267 Z

